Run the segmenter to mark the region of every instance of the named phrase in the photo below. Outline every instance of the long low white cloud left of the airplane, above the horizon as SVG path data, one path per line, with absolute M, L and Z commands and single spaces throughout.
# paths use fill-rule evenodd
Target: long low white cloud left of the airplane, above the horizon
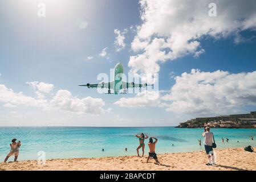
M 36 86 L 35 88 L 38 89 Z M 43 89 L 43 91 L 45 92 L 46 90 Z M 85 97 L 80 99 L 72 96 L 68 90 L 58 90 L 48 101 L 44 97 L 34 98 L 25 96 L 22 92 L 14 92 L 12 89 L 6 88 L 5 85 L 1 84 L 0 102 L 3 103 L 4 107 L 27 106 L 38 107 L 44 110 L 66 110 L 74 113 L 103 114 L 110 111 L 110 109 L 103 109 L 105 102 L 101 98 Z

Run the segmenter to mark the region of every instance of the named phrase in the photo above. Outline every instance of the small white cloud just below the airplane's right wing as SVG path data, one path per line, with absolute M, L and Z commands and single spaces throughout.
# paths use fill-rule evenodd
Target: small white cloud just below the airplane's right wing
M 159 93 L 155 91 L 145 90 L 144 92 L 137 93 L 135 97 L 125 98 L 122 97 L 114 104 L 121 107 L 137 108 L 146 106 L 157 106 L 159 102 Z

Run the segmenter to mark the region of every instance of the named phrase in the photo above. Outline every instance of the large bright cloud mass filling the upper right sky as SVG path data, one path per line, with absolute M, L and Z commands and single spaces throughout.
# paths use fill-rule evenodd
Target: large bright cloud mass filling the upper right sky
M 256 2 L 248 0 L 214 1 L 217 17 L 208 15 L 212 1 L 140 0 L 141 20 L 131 48 L 128 66 L 133 73 L 153 74 L 159 64 L 186 55 L 200 56 L 205 50 L 200 40 L 234 36 L 243 40 L 241 31 L 256 29 Z M 238 13 L 239 12 L 239 13 Z

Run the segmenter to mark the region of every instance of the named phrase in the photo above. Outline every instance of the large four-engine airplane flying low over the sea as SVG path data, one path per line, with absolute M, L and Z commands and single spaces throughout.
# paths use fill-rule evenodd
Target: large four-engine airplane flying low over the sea
M 118 94 L 119 90 L 124 89 L 125 91 L 128 88 L 145 88 L 147 86 L 153 86 L 153 84 L 135 84 L 134 82 L 124 82 L 122 81 L 122 75 L 124 73 L 124 67 L 121 63 L 117 63 L 115 68 L 115 81 L 112 82 L 101 82 L 98 84 L 86 84 L 86 85 L 78 85 L 78 86 L 87 86 L 88 88 L 107 88 L 108 93 L 107 94 L 112 94 L 110 89 L 113 89 L 114 94 Z M 125 92 L 124 92 L 125 94 Z

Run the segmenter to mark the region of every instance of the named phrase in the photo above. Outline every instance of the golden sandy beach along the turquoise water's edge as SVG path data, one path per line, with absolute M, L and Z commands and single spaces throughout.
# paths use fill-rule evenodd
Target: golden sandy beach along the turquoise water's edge
M 254 150 L 256 148 L 254 147 Z M 216 170 L 216 171 L 241 171 L 256 170 L 256 152 L 246 152 L 243 148 L 227 148 L 215 150 L 217 165 L 206 166 L 204 151 L 184 152 L 173 154 L 159 154 L 162 166 L 155 164 L 147 156 L 119 156 L 105 158 L 80 158 L 80 159 L 50 159 L 46 164 L 38 164 L 36 160 L 1 163 L 0 170 Z

